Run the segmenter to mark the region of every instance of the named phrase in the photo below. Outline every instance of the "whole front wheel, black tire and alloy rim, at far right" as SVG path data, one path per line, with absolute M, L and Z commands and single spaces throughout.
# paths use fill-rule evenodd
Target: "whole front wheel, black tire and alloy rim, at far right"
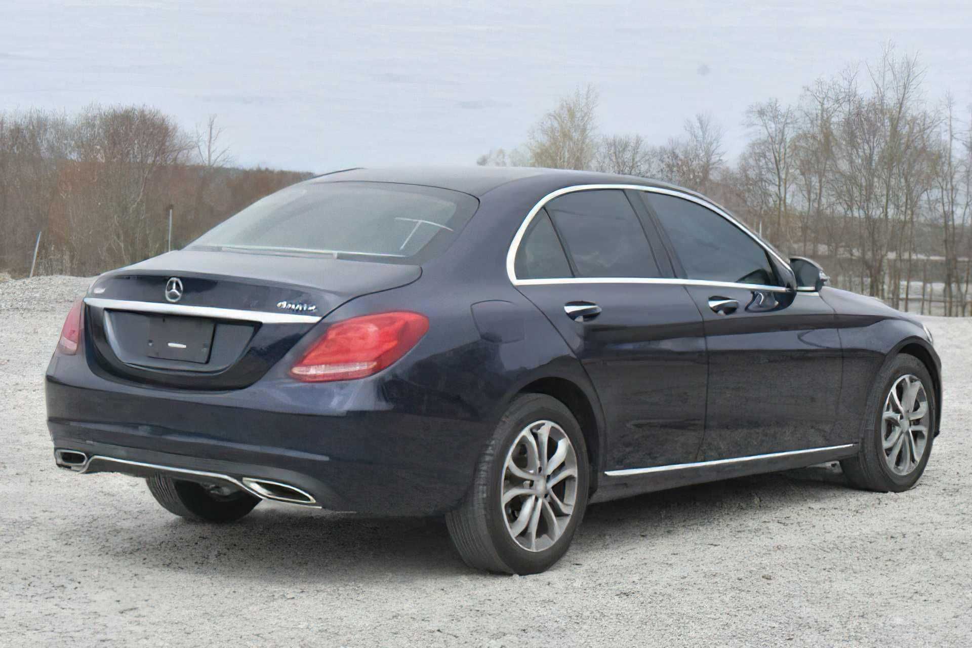
M 918 411 L 912 410 L 910 416 L 901 417 L 901 407 L 909 407 L 903 402 L 907 400 L 905 390 L 914 389 L 914 379 L 921 383 L 921 390 L 915 390 Z M 892 387 L 895 388 L 897 401 L 892 398 Z M 922 393 L 926 413 L 920 420 L 912 421 L 910 419 L 920 413 Z M 897 402 L 901 402 L 901 406 Z M 888 407 L 888 419 L 885 420 L 885 408 Z M 899 419 L 907 423 L 911 431 L 894 423 L 895 412 L 899 413 Z M 937 415 L 934 384 L 920 359 L 901 354 L 891 360 L 878 374 L 868 399 L 861 426 L 860 451 L 856 457 L 841 461 L 851 486 L 879 493 L 901 493 L 914 487 L 931 455 L 934 433 L 938 428 Z M 921 426 L 924 427 L 923 443 L 920 438 Z M 897 436 L 896 430 L 901 430 Z M 892 443 L 890 448 L 885 449 L 885 442 L 891 443 L 897 438 L 901 439 L 900 448 L 897 443 Z M 919 451 L 920 458 L 916 461 L 915 455 Z

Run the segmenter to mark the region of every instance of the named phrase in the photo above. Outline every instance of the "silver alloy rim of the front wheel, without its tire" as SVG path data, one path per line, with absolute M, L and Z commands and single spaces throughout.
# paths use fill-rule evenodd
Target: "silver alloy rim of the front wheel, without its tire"
M 894 381 L 885 398 L 882 443 L 891 472 L 907 475 L 918 466 L 928 445 L 928 395 L 917 376 Z

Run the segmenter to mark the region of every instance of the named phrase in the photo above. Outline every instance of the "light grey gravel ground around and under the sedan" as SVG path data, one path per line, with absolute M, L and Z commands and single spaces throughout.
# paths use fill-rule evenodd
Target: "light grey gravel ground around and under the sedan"
M 0 643 L 972 644 L 972 321 L 926 319 L 945 412 L 913 491 L 810 468 L 594 505 L 563 561 L 504 577 L 437 520 L 264 502 L 191 524 L 139 480 L 56 469 L 42 376 L 87 283 L 0 283 Z

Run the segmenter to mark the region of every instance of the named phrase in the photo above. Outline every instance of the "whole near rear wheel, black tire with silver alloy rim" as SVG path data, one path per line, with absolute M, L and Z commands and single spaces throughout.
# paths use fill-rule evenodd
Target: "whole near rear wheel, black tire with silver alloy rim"
M 542 459 L 541 445 L 546 446 Z M 564 458 L 553 463 L 559 453 Z M 589 471 L 583 433 L 571 410 L 548 395 L 518 396 L 483 451 L 465 500 L 446 514 L 463 561 L 473 568 L 514 574 L 538 573 L 559 561 L 584 517 Z M 538 479 L 529 481 L 526 475 Z M 505 504 L 504 494 L 510 497 Z

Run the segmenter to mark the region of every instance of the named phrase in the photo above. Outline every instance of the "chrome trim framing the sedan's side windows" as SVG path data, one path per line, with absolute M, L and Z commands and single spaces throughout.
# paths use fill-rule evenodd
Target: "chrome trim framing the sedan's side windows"
M 733 282 L 714 282 L 703 279 L 668 279 L 649 277 L 564 277 L 562 279 L 517 279 L 516 253 L 520 249 L 520 242 L 526 235 L 530 222 L 534 220 L 534 217 L 537 216 L 538 212 L 543 209 L 546 203 L 550 202 L 557 196 L 564 195 L 565 193 L 573 193 L 575 191 L 590 191 L 594 189 L 631 189 L 634 191 L 650 191 L 652 193 L 664 193 L 666 195 L 672 195 L 684 200 L 690 200 L 694 203 L 702 205 L 706 209 L 709 209 L 715 214 L 721 216 L 726 221 L 736 225 L 746 234 L 746 236 L 751 238 L 760 248 L 765 250 L 768 255 L 774 256 L 783 264 L 783 266 L 787 268 L 790 267 L 789 261 L 782 258 L 780 255 L 774 252 L 772 248 L 768 247 L 765 243 L 759 240 L 759 237 L 749 231 L 749 229 L 743 225 L 743 223 L 734 219 L 732 216 L 726 213 L 725 210 L 721 209 L 714 203 L 692 195 L 691 193 L 669 188 L 645 187 L 643 185 L 573 185 L 571 187 L 556 189 L 540 198 L 538 203 L 534 205 L 533 209 L 527 213 L 527 216 L 523 222 L 520 223 L 520 228 L 516 230 L 516 235 L 513 237 L 513 241 L 509 244 L 509 249 L 506 251 L 506 276 L 509 278 L 509 281 L 513 284 L 513 286 L 538 286 L 550 284 L 677 284 L 682 286 L 720 286 L 725 288 L 747 288 L 750 290 L 773 290 L 779 292 L 787 291 L 781 286 L 767 287 L 757 286 L 754 284 L 737 284 Z

